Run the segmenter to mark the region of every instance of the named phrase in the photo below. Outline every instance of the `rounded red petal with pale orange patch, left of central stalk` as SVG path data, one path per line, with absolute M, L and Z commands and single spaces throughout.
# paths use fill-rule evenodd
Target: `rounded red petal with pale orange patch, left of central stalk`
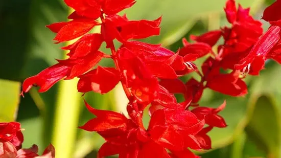
M 78 91 L 88 92 L 92 89 L 93 92 L 105 94 L 111 91 L 112 88 L 120 81 L 119 72 L 113 67 L 101 67 L 92 70 L 79 77 Z M 90 86 L 90 87 L 87 87 Z

